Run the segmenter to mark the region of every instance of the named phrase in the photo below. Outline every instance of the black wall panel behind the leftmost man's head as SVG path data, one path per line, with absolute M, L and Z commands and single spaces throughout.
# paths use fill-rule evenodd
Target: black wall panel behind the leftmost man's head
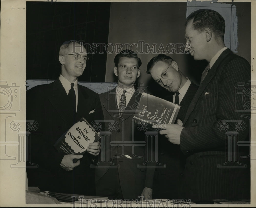
M 66 40 L 108 43 L 110 2 L 27 2 L 27 80 L 57 79 Z M 88 54 L 79 81 L 105 81 L 106 53 Z

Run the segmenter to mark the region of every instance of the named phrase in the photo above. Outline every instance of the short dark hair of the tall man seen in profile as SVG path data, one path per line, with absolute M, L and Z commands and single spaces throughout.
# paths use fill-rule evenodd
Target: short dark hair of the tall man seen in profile
M 215 35 L 216 41 L 224 40 L 225 20 L 217 11 L 211 9 L 194 11 L 187 17 L 186 25 L 192 19 L 192 28 L 194 30 L 202 32 L 205 28 L 210 28 Z

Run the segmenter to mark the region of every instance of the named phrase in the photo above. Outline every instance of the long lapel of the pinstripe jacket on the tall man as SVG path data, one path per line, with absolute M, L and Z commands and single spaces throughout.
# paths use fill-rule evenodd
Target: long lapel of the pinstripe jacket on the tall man
M 216 71 L 218 70 L 220 63 L 225 59 L 225 57 L 232 53 L 232 51 L 230 49 L 226 49 L 225 51 L 222 52 L 222 54 L 219 56 L 219 58 L 215 61 L 215 63 L 213 64 L 212 68 L 210 69 L 210 71 L 208 72 L 208 74 L 206 75 L 204 81 L 200 84 L 194 98 L 192 99 L 188 111 L 186 113 L 186 116 L 184 118 L 183 121 L 183 126 L 185 125 L 185 123 L 187 122 L 190 114 L 192 113 L 192 111 L 194 110 L 196 103 L 199 99 L 199 97 L 201 96 L 202 92 L 204 92 L 206 86 L 209 84 L 209 82 L 212 80 L 212 78 L 214 77 L 214 75 L 216 74 Z

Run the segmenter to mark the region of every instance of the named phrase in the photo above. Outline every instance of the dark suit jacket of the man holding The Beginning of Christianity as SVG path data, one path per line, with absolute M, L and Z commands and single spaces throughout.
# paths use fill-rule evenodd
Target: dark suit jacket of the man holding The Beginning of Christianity
M 99 96 L 92 90 L 78 85 L 77 113 L 72 113 L 68 104 L 68 95 L 60 80 L 47 85 L 39 85 L 27 91 L 27 121 L 38 124 L 36 131 L 31 131 L 30 162 L 38 168 L 29 168 L 27 175 L 29 186 L 38 186 L 41 191 L 59 193 L 95 194 L 94 169 L 88 152 L 80 159 L 80 165 L 72 171 L 60 167 L 64 154 L 59 153 L 54 144 L 73 124 L 83 116 L 89 123 L 102 120 Z M 94 110 L 94 113 L 89 114 Z

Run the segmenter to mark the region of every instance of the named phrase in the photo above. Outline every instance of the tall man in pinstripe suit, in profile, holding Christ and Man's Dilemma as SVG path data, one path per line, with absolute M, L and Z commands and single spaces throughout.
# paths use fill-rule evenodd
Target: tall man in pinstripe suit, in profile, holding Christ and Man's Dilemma
M 209 64 L 183 125 L 165 125 L 160 131 L 187 155 L 183 194 L 201 204 L 250 199 L 250 161 L 240 160 L 249 154 L 236 143 L 249 138 L 250 112 L 241 115 L 236 109 L 246 112 L 250 96 L 236 99 L 234 89 L 248 83 L 251 67 L 224 45 L 224 32 L 225 21 L 216 11 L 200 9 L 187 17 L 187 50 Z

